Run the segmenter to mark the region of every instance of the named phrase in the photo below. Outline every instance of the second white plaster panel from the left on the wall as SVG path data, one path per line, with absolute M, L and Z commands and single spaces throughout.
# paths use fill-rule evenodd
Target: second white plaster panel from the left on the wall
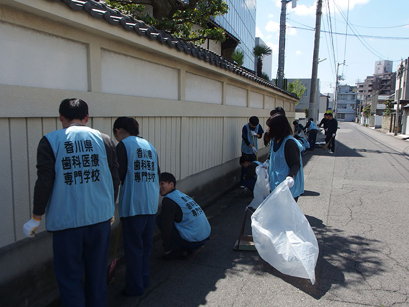
M 178 99 L 178 70 L 101 50 L 102 92 Z

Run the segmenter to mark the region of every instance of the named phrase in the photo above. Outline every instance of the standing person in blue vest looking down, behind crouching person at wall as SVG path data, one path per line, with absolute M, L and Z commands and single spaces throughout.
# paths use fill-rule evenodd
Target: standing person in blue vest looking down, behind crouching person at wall
M 241 129 L 241 155 L 251 155 L 257 160 L 258 144 L 257 140 L 263 136 L 263 128 L 259 124 L 259 118 L 252 116 L 248 123 Z M 241 168 L 240 188 L 244 188 L 242 178 L 246 174 L 246 169 Z

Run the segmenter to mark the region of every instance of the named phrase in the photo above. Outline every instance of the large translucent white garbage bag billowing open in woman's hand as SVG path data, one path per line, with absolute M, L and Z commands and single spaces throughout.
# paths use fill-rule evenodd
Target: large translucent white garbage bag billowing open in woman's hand
M 307 218 L 282 182 L 252 215 L 254 245 L 283 274 L 315 282 L 318 243 Z

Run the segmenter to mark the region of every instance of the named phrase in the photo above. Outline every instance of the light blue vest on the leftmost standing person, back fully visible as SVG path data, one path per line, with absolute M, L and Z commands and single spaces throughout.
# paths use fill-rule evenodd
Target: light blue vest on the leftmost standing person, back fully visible
M 111 172 L 98 130 L 81 125 L 46 135 L 55 157 L 55 181 L 46 207 L 49 231 L 108 221 L 115 209 Z

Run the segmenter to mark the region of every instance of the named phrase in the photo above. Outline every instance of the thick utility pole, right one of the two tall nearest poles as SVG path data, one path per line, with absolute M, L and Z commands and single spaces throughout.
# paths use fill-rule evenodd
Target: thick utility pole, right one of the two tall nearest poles
M 308 105 L 309 117 L 315 121 L 315 103 L 316 103 L 316 78 L 318 75 L 318 62 L 320 53 L 320 32 L 321 32 L 321 15 L 323 0 L 316 2 L 316 17 L 315 17 L 315 38 L 314 38 L 314 54 L 312 57 L 312 73 L 311 73 L 311 89 L 310 89 L 310 103 Z M 320 93 L 319 93 L 320 94 Z

